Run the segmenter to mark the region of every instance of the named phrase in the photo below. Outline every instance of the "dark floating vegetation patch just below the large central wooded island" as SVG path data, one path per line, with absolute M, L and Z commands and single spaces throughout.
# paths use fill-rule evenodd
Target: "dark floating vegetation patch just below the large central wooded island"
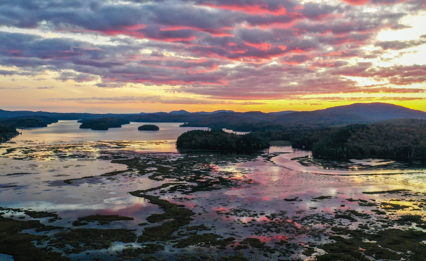
M 112 160 L 112 163 L 125 164 L 128 170 L 135 171 L 139 175 L 148 175 L 148 178 L 152 180 L 173 180 L 173 182 L 167 182 L 157 187 L 158 189 L 168 187 L 168 193 L 191 194 L 197 191 L 213 191 L 250 183 L 251 180 L 244 179 L 241 171 L 219 171 L 218 166 L 259 160 L 258 155 L 216 154 L 215 157 L 212 157 L 211 154 L 144 154 L 131 159 Z M 243 178 L 236 179 L 237 175 Z

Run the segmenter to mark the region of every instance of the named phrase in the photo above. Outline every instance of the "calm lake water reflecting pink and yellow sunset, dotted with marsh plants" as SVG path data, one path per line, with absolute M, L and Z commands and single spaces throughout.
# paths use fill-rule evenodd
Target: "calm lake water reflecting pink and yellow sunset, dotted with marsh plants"
M 148 247 L 141 239 L 114 241 L 108 247 L 67 254 L 72 260 L 314 260 L 315 255 L 329 253 L 323 245 L 334 242 L 329 239 L 332 227 L 356 230 L 368 225 L 369 233 L 379 233 L 390 225 L 423 231 L 413 221 L 411 225 L 391 222 L 425 214 L 424 163 L 318 160 L 309 151 L 289 146 L 251 154 L 178 152 L 178 135 L 207 128 L 154 123 L 159 131 L 138 131 L 142 124 L 93 131 L 79 129 L 76 121 L 60 121 L 46 128 L 20 129 L 22 135 L 0 145 L 0 206 L 55 211 L 62 219 L 53 223 L 48 222 L 51 217 L 36 219 L 63 229 L 26 230 L 54 238 L 60 231 L 75 229 L 78 218 L 96 214 L 133 220 L 79 227 L 127 228 L 143 236 L 145 228 L 161 225 L 147 222 L 147 217 L 164 213 L 164 208 L 129 194 L 132 191 L 148 190 L 146 194 L 194 213 L 190 224 L 170 237 L 174 239 L 150 242 L 161 246 L 157 251 L 137 252 Z M 101 176 L 112 171 L 123 173 Z M 161 188 L 166 183 L 173 184 Z M 150 190 L 156 187 L 160 188 Z M 4 217 L 32 220 L 23 212 L 3 212 Z M 389 222 L 377 221 L 383 219 Z M 191 230 L 200 225 L 205 228 Z M 233 241 L 221 246 L 209 236 Z M 374 260 L 374 255 L 368 258 Z M 13 260 L 10 255 L 0 259 Z

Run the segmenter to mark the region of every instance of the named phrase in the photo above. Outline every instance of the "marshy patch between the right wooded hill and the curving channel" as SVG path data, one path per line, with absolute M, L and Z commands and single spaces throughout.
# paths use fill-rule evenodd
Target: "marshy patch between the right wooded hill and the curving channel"
M 315 166 L 319 169 L 343 170 L 343 171 L 378 171 L 378 170 L 400 170 L 400 169 L 426 169 L 425 161 L 394 161 L 380 159 L 365 160 L 331 160 L 319 159 L 312 156 L 295 157 L 291 160 L 300 165 L 308 167 Z

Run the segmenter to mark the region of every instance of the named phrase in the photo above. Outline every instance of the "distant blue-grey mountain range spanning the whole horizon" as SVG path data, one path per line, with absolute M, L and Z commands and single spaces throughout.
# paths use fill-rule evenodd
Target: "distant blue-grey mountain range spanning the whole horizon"
M 282 111 L 282 112 L 234 112 L 217 110 L 214 112 L 155 112 L 139 114 L 93 114 L 6 111 L 0 109 L 0 118 L 20 116 L 47 116 L 58 120 L 81 120 L 91 118 L 115 117 L 134 122 L 187 122 L 188 126 L 220 126 L 226 123 L 259 123 L 271 122 L 279 124 L 301 124 L 310 126 L 343 126 L 353 123 L 372 123 L 398 118 L 426 119 L 426 112 L 386 103 L 357 103 L 331 107 L 315 111 Z

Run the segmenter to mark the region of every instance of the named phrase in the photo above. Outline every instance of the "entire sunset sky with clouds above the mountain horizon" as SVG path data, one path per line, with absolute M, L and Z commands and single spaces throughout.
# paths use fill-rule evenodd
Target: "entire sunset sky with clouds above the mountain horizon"
M 0 0 L 0 109 L 426 111 L 426 0 Z

